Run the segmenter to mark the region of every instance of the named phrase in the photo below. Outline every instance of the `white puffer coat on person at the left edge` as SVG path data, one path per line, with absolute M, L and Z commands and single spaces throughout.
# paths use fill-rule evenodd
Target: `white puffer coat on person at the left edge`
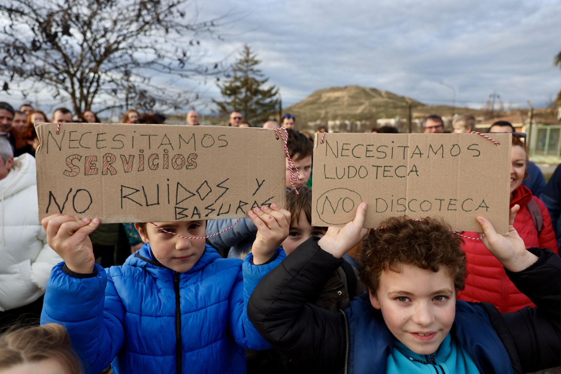
M 41 297 L 60 261 L 39 223 L 35 158 L 25 153 L 0 180 L 0 311 Z

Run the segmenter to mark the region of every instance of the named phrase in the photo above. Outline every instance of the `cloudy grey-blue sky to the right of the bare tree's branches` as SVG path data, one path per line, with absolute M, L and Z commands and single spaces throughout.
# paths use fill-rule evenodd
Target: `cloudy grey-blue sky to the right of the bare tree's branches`
M 228 12 L 219 56 L 247 43 L 287 105 L 313 91 L 361 85 L 427 104 L 546 105 L 561 90 L 560 1 L 207 0 L 201 19 Z M 234 56 L 236 56 L 234 54 Z M 231 58 L 233 60 L 233 58 Z M 205 96 L 219 96 L 214 88 Z

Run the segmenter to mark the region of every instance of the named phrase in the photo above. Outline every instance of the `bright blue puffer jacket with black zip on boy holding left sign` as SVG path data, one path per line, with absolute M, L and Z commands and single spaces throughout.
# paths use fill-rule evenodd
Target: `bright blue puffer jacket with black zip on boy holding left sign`
M 84 278 L 61 262 L 47 284 L 41 323 L 66 326 L 90 373 L 110 363 L 116 374 L 176 373 L 176 339 L 183 373 L 245 373 L 243 348 L 270 347 L 247 318 L 247 300 L 284 257 L 279 248 L 269 264 L 242 266 L 206 246 L 191 270 L 176 273 L 144 244 L 123 266 L 96 265 Z

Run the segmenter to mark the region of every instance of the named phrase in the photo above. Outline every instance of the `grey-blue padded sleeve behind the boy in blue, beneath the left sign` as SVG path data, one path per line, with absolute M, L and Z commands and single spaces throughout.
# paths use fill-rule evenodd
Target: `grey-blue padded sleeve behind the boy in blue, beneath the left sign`
M 227 229 L 234 222 L 236 222 L 235 218 L 208 220 L 206 221 L 206 235 L 209 236 Z M 256 232 L 257 227 L 255 227 L 253 221 L 249 218 L 242 218 L 234 227 L 220 235 L 208 238 L 208 241 L 211 246 L 223 251 L 235 246 Z

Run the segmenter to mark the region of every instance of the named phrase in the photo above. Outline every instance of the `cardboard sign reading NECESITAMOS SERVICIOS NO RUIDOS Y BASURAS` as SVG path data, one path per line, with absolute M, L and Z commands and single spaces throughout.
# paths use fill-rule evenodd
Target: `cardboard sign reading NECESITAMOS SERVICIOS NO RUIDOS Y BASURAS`
M 35 124 L 39 219 L 103 223 L 238 218 L 284 206 L 282 140 L 262 128 Z

